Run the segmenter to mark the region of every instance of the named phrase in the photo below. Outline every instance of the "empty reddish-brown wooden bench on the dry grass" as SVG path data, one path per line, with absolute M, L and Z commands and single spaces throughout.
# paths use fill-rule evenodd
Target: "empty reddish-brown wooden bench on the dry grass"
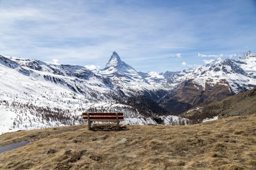
M 82 113 L 83 119 L 88 121 L 88 129 L 91 129 L 93 121 L 116 121 L 119 129 L 119 121 L 123 121 L 123 113 Z

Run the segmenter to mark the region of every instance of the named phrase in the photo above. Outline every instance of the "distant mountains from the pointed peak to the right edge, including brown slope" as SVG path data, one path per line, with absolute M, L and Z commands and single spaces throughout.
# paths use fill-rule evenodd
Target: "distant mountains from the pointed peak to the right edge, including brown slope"
M 207 65 L 183 71 L 141 72 L 113 52 L 106 68 L 94 70 L 119 89 L 141 92 L 173 115 L 192 106 L 219 101 L 256 85 L 256 54 L 248 51 L 234 60 L 217 58 Z

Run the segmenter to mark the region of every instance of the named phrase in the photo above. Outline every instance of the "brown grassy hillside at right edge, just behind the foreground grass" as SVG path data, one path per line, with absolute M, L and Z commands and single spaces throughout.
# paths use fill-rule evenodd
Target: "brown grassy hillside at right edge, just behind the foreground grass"
M 219 116 L 227 118 L 238 115 L 250 115 L 256 113 L 256 87 L 247 92 L 239 93 L 234 96 L 225 98 L 222 101 L 212 102 L 203 109 L 185 112 L 181 117 L 188 119 L 204 119 Z

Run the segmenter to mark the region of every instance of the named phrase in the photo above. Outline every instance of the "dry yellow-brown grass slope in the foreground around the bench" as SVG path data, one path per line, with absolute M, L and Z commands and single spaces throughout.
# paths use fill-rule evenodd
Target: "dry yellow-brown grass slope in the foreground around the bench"
M 127 125 L 88 131 L 86 125 L 0 136 L 0 146 L 39 139 L 0 156 L 0 169 L 255 170 L 256 115 L 187 126 Z M 127 140 L 121 139 L 126 138 Z

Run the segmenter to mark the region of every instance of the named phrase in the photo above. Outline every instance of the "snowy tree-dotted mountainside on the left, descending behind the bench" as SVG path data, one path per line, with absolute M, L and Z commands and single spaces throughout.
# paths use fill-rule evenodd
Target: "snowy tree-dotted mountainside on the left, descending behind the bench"
M 180 117 L 156 116 L 168 112 L 142 93 L 124 93 L 114 83 L 82 66 L 0 56 L 0 133 L 78 124 L 82 112 L 96 110 L 122 111 L 129 124 L 159 119 L 188 123 Z

